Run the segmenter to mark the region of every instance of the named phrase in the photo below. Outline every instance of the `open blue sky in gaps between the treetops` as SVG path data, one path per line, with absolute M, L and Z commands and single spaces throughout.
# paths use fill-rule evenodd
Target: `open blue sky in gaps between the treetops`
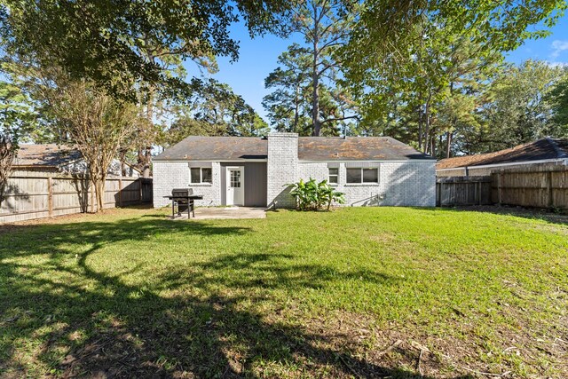
M 507 60 L 520 63 L 526 59 L 542 59 L 553 64 L 568 63 L 568 16 L 559 20 L 551 35 L 540 40 L 529 40 L 516 51 L 509 52 Z M 264 78 L 277 67 L 276 59 L 293 42 L 301 42 L 300 36 L 282 39 L 267 35 L 250 39 L 248 30 L 242 24 L 233 25 L 232 36 L 240 41 L 240 58 L 231 63 L 230 59 L 217 59 L 219 72 L 213 77 L 229 84 L 256 112 L 265 117 L 262 99 L 269 91 L 264 90 Z M 192 72 L 191 63 L 188 69 Z

